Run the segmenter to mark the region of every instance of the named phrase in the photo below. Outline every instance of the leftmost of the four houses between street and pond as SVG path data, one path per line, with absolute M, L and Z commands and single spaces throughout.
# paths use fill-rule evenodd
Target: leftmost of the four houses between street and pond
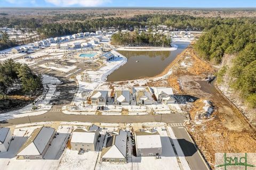
M 91 95 L 91 102 L 93 105 L 106 105 L 108 100 L 108 91 L 94 90 Z

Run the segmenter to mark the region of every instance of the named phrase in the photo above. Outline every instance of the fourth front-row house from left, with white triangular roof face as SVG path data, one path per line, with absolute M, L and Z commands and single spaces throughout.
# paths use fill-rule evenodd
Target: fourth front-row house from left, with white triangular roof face
M 106 134 L 106 145 L 103 145 L 101 160 L 110 163 L 125 163 L 127 150 L 127 132 L 119 129 Z

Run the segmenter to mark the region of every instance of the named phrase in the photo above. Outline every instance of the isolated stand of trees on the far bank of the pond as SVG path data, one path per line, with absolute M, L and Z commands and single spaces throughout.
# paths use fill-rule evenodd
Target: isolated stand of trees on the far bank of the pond
M 158 46 L 158 47 L 170 47 L 171 38 L 160 33 L 142 32 L 118 32 L 111 37 L 111 44 L 113 45 L 125 45 L 125 46 Z

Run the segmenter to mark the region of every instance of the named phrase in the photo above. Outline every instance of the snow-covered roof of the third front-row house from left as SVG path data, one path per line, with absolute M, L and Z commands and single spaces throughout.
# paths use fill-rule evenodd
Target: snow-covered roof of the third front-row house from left
M 95 138 L 95 131 L 87 132 L 84 129 L 76 129 L 73 132 L 72 143 L 93 143 Z

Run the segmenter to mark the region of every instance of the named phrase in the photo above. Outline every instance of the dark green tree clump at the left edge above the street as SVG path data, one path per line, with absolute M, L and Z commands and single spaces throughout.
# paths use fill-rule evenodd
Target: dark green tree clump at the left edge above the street
M 0 63 L 0 93 L 5 99 L 12 88 L 22 90 L 24 95 L 37 95 L 43 85 L 41 75 L 35 74 L 26 64 L 15 63 L 13 60 L 6 60 Z

